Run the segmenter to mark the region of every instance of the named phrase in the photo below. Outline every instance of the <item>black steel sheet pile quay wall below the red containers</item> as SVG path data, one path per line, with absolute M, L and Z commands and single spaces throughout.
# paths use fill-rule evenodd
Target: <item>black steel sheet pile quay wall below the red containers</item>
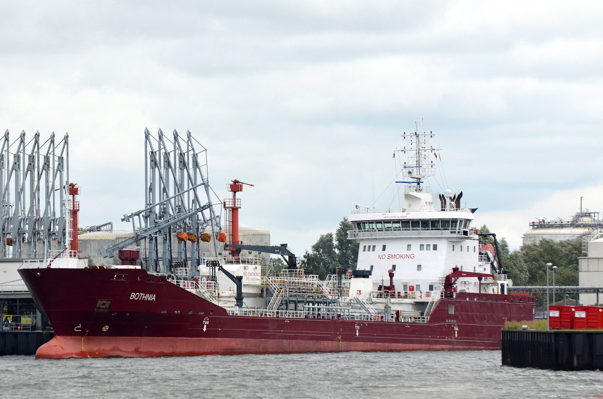
M 603 370 L 603 331 L 502 330 L 502 365 Z

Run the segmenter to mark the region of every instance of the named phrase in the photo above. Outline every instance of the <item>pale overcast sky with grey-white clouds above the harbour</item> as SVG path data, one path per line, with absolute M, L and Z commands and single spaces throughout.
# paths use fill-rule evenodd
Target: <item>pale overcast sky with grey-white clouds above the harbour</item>
M 0 1 L 0 128 L 69 134 L 80 226 L 144 208 L 144 129 L 190 130 L 241 225 L 302 255 L 433 131 L 446 186 L 511 248 L 603 211 L 603 2 Z M 440 192 L 440 187 L 434 187 Z

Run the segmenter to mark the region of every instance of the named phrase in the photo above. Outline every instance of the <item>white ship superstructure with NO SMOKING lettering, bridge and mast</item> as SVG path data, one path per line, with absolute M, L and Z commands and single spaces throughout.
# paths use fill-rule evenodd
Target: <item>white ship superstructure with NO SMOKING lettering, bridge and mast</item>
M 455 267 L 493 273 L 498 283 L 505 284 L 504 275 L 492 268 L 492 251 L 480 251 L 473 226 L 475 209 L 461 206 L 463 193 L 452 195 L 445 190 L 434 201 L 425 178 L 435 174 L 439 148 L 429 145 L 433 133 L 421 133 L 420 127 L 417 122 L 415 132 L 404 135 L 407 146 L 397 150 L 409 158 L 400 165 L 402 178 L 397 181 L 405 185 L 401 201 L 404 208 L 370 210 L 356 206 L 350 216 L 353 230 L 348 237 L 359 243 L 358 269 L 370 271 L 373 290 L 389 286 L 389 273 L 393 271 L 391 291 L 405 292 L 407 297 L 412 292 L 412 298 L 424 300 L 440 293 L 442 278 Z M 358 294 L 353 280 L 350 292 Z M 481 289 L 484 293 L 499 293 L 499 284 L 494 282 L 479 284 L 475 278 L 460 278 L 456 285 L 459 292 Z

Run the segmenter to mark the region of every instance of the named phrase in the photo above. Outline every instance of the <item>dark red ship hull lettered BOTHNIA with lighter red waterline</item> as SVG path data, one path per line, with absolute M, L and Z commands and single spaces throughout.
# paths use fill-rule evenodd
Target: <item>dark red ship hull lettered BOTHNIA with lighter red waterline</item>
M 532 319 L 535 307 L 533 297 L 460 293 L 426 323 L 237 316 L 142 269 L 19 274 L 55 330 L 39 358 L 496 350 L 505 322 Z

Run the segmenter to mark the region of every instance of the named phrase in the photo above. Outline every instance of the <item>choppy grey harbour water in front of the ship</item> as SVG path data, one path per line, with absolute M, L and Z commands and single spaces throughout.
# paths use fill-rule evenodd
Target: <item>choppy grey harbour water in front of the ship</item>
M 603 398 L 602 371 L 500 365 L 500 351 L 36 360 L 0 357 L 0 397 Z

